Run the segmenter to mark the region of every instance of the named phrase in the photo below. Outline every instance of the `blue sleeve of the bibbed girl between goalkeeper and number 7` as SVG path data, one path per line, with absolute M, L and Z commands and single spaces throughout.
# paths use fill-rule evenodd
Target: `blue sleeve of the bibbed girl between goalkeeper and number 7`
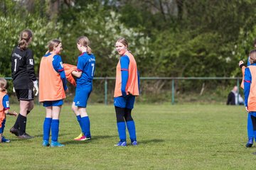
M 60 74 L 60 79 L 63 81 L 64 90 L 68 89 L 67 79 L 65 77 L 63 62 L 61 60 L 60 55 L 55 55 L 53 57 L 53 68 L 55 69 L 56 72 Z

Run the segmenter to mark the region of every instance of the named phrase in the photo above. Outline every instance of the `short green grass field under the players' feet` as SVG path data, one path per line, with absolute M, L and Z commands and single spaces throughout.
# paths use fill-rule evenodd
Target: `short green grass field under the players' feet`
M 11 106 L 18 111 L 18 106 Z M 31 140 L 9 133 L 6 121 L 0 143 L 0 169 L 252 169 L 256 147 L 245 148 L 247 113 L 243 106 L 135 105 L 133 117 L 139 145 L 114 147 L 118 142 L 113 106 L 89 105 L 91 141 L 74 141 L 80 128 L 70 106 L 60 115 L 62 148 L 42 147 L 43 106 L 28 115 Z M 129 137 L 129 135 L 127 134 Z

